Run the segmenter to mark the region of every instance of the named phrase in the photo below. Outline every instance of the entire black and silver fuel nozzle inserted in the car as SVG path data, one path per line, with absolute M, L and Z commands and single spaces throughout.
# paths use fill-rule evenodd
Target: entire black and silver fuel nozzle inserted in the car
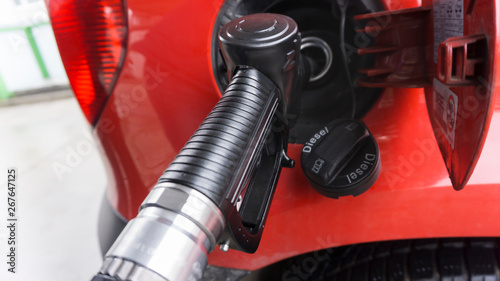
M 287 125 L 306 79 L 300 33 L 286 16 L 256 14 L 227 23 L 219 38 L 230 81 L 223 97 L 114 242 L 95 281 L 200 280 L 217 244 L 257 250 L 281 168 L 293 166 Z

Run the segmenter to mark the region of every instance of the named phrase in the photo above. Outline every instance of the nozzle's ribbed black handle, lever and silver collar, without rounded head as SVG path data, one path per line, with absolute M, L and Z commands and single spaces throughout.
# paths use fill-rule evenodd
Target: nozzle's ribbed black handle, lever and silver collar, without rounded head
M 127 276 L 131 266 L 166 280 L 199 280 L 217 243 L 255 252 L 287 159 L 286 127 L 272 126 L 280 123 L 280 101 L 269 78 L 240 67 L 110 248 L 96 281 Z

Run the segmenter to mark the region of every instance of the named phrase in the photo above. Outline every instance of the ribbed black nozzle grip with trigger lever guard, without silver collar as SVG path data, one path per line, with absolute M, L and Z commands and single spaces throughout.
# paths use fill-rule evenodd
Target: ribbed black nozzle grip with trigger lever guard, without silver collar
M 158 180 L 157 187 L 179 184 L 209 198 L 226 220 L 223 237 L 215 240 L 231 240 L 231 248 L 245 252 L 258 247 L 282 160 L 287 159 L 286 120 L 277 111 L 281 97 L 279 88 L 260 71 L 240 67 Z M 155 203 L 146 200 L 141 208 L 151 205 Z

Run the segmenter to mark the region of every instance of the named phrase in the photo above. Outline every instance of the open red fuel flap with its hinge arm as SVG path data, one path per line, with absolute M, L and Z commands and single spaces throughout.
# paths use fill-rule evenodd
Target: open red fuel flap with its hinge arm
M 376 54 L 361 69 L 365 87 L 424 87 L 427 109 L 451 182 L 469 180 L 488 132 L 498 87 L 499 3 L 423 0 L 422 7 L 358 15 Z

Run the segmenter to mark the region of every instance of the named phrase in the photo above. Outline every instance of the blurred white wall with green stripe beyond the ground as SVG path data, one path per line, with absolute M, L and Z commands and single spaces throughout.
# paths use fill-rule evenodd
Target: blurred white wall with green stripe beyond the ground
M 42 0 L 0 2 L 0 98 L 68 87 Z

